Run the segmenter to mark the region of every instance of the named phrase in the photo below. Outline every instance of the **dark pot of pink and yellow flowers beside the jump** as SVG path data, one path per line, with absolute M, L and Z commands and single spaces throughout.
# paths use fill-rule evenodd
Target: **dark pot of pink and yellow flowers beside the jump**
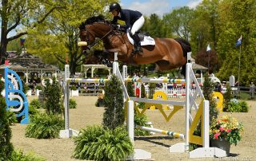
M 219 147 L 230 155 L 230 144 L 237 145 L 242 138 L 243 126 L 230 115 L 222 116 L 220 120 L 214 120 L 210 127 L 210 143 L 212 147 Z

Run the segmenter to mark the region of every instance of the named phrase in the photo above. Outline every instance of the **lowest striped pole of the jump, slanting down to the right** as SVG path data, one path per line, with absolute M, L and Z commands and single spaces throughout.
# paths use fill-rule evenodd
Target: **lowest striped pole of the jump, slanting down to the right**
M 156 133 L 159 133 L 159 134 L 170 135 L 171 137 L 184 139 L 184 135 L 180 134 L 178 132 L 170 132 L 170 131 L 165 131 L 165 130 L 161 130 L 161 129 L 158 129 L 158 128 L 149 128 L 149 127 L 143 127 L 143 126 L 139 126 L 139 125 L 135 125 L 135 128 L 145 130 L 145 131 L 148 131 L 148 132 L 156 132 Z

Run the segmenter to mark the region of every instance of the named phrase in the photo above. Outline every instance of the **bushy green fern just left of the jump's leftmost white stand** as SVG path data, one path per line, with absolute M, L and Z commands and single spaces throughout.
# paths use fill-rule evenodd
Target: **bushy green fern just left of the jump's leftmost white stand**
M 43 113 L 31 117 L 25 135 L 37 139 L 58 138 L 59 131 L 63 128 L 64 120 L 60 116 Z

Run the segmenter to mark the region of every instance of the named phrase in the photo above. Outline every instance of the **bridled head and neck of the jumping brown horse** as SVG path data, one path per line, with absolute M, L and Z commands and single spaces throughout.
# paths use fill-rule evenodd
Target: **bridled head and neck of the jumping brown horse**
M 81 41 L 78 42 L 78 46 L 81 46 L 82 50 L 86 50 L 98 43 L 98 41 L 95 42 L 96 37 L 100 39 L 106 37 L 111 28 L 110 23 L 106 22 L 102 15 L 99 15 L 82 22 L 79 29 Z

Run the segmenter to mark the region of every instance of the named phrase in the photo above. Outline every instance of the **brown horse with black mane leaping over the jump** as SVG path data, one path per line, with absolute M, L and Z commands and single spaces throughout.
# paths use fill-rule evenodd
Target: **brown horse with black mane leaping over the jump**
M 186 73 L 186 57 L 191 51 L 190 43 L 182 38 L 154 38 L 155 45 L 143 45 L 142 54 L 134 54 L 126 31 L 115 29 L 102 15 L 88 18 L 79 26 L 78 46 L 82 51 L 92 48 L 103 41 L 105 57 L 114 60 L 114 53 L 118 53 L 118 61 L 131 65 L 146 65 L 155 63 L 158 70 L 171 70 L 182 67 L 182 74 Z M 98 40 L 96 41 L 96 38 Z

